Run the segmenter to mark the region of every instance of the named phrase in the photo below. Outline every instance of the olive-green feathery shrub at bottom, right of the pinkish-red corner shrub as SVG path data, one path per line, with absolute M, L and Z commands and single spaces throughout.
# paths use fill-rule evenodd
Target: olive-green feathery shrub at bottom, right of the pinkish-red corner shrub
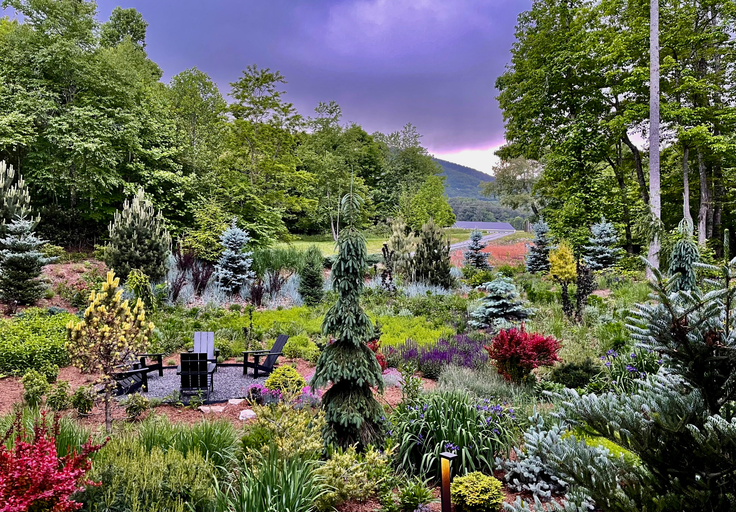
M 186 456 L 177 449 L 149 451 L 135 438 L 113 438 L 96 455 L 91 480 L 77 501 L 86 511 L 214 510 L 213 463 L 199 451 Z

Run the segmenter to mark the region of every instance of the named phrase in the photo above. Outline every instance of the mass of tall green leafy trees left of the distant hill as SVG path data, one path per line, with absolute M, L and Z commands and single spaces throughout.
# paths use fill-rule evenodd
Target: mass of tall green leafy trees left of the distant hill
M 289 232 L 336 238 L 351 182 L 365 200 L 356 228 L 389 232 L 400 209 L 416 229 L 455 220 L 411 124 L 371 135 L 335 102 L 305 117 L 285 77 L 257 65 L 227 99 L 197 68 L 160 82 L 135 9 L 100 24 L 93 1 L 3 5 L 21 16 L 0 19 L 0 160 L 26 179 L 38 232 L 54 243 L 105 238 L 139 188 L 174 238 L 202 250 L 233 216 L 254 246 Z

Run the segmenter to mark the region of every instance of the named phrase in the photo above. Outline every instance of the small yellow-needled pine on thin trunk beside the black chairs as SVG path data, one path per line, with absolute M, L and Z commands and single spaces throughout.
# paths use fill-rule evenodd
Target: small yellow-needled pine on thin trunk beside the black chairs
M 115 271 L 107 272 L 102 291 L 92 291 L 82 321 L 66 326 L 66 348 L 72 364 L 82 371 L 99 371 L 96 383 L 105 390 L 105 427 L 113 427 L 112 397 L 120 366 L 130 366 L 135 355 L 146 352 L 154 328 L 146 321 L 146 309 L 138 299 L 132 309 L 122 300 L 123 290 Z

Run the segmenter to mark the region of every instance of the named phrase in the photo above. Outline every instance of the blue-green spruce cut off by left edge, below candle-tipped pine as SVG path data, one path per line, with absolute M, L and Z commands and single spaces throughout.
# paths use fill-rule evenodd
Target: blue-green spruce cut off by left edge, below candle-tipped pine
M 57 258 L 38 250 L 46 240 L 33 232 L 36 222 L 17 217 L 6 225 L 5 238 L 0 238 L 0 299 L 4 302 L 33 304 L 46 291 L 46 283 L 38 278 L 43 266 Z

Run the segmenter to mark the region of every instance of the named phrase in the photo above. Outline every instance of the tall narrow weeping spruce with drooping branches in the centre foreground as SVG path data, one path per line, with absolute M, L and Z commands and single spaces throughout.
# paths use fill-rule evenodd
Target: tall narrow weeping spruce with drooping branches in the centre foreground
M 322 333 L 333 338 L 317 360 L 312 388 L 332 387 L 322 395 L 327 424 L 322 430 L 325 446 L 358 448 L 374 443 L 381 435 L 383 408 L 373 397 L 372 386 L 383 390 L 381 366 L 368 348 L 373 326 L 360 304 L 367 248 L 363 235 L 353 227 L 353 217 L 362 199 L 352 191 L 342 199 L 350 220 L 337 239 L 338 255 L 332 267 L 337 302 L 322 322 Z

